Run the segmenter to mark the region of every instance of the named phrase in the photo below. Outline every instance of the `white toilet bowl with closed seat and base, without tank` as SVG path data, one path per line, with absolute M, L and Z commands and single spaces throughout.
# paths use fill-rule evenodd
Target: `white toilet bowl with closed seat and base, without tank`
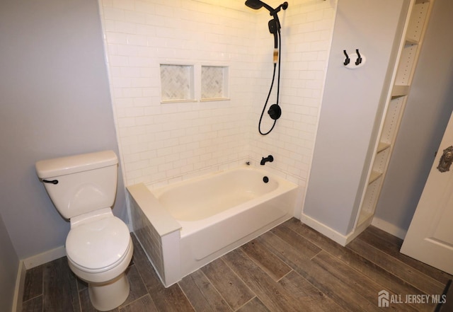
M 120 306 L 129 295 L 125 270 L 134 245 L 126 224 L 110 208 L 99 209 L 83 221 L 71 220 L 66 239 L 69 268 L 88 283 L 91 304 L 99 311 Z

